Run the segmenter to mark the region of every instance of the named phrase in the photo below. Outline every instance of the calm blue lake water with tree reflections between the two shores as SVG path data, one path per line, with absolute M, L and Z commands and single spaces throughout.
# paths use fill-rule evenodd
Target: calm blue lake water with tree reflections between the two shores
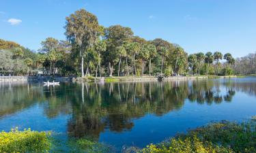
M 256 78 L 43 86 L 0 82 L 0 131 L 31 128 L 145 147 L 212 121 L 256 115 Z M 119 151 L 117 151 L 119 152 Z

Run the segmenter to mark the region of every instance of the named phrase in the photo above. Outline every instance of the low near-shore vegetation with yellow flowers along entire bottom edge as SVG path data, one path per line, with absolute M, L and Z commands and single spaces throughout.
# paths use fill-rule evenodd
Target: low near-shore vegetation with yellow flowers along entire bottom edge
M 9 133 L 0 133 L 0 152 L 63 152 L 63 143 L 59 146 L 53 139 L 46 132 L 13 129 Z M 132 147 L 122 152 L 256 152 L 255 139 L 255 118 L 242 123 L 221 121 L 143 149 Z M 110 146 L 84 138 L 70 139 L 66 145 L 70 152 L 113 152 Z

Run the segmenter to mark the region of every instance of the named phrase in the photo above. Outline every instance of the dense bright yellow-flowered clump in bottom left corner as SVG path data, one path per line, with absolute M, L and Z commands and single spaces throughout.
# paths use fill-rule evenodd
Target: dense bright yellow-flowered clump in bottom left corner
M 51 133 L 25 129 L 0 133 L 0 152 L 48 152 Z

